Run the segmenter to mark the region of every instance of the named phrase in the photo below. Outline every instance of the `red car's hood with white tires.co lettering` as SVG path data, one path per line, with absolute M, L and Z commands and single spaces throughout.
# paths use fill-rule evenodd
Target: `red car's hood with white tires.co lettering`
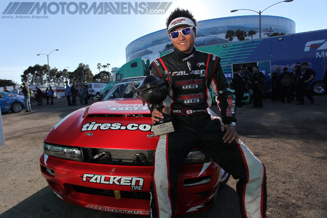
M 64 117 L 46 143 L 82 147 L 155 150 L 150 111 L 140 99 L 93 103 Z

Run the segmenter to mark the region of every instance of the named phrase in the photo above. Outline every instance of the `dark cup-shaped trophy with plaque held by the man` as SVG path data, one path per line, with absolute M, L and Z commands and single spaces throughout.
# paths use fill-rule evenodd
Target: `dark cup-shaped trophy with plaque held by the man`
M 167 79 L 159 79 L 154 75 L 148 75 L 144 78 L 143 82 L 138 88 L 135 88 L 135 83 L 131 84 L 132 91 L 143 102 L 149 105 L 154 105 L 154 108 L 159 110 L 164 118 L 159 118 L 156 124 L 152 125 L 152 130 L 155 136 L 166 134 L 174 131 L 173 124 L 169 115 L 163 113 L 164 105 L 163 101 L 167 95 L 169 95 L 170 83 L 169 73 L 167 73 Z

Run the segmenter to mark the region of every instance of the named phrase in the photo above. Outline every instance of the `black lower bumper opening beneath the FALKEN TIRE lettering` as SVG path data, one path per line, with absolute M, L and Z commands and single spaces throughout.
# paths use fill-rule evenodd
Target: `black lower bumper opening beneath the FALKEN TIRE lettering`
M 73 190 L 78 193 L 115 197 L 115 193 L 113 190 L 89 188 L 79 185 L 72 185 L 72 186 L 73 186 Z M 142 192 L 142 191 L 138 191 L 138 192 L 120 191 L 120 196 L 121 198 L 126 198 L 126 199 L 150 200 L 150 193 Z

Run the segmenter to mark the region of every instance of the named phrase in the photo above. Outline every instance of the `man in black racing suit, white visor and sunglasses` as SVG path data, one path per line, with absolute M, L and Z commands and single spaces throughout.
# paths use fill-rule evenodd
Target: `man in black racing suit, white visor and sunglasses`
M 176 210 L 178 171 L 190 150 L 197 147 L 235 179 L 242 217 L 264 218 L 266 175 L 264 165 L 238 140 L 235 101 L 228 89 L 220 58 L 197 51 L 193 46 L 197 21 L 188 10 L 176 9 L 167 19 L 167 33 L 174 51 L 155 59 L 149 66 L 153 75 L 166 78 L 170 73 L 170 96 L 164 100 L 164 113 L 170 114 L 174 132 L 160 136 L 151 182 L 150 212 L 153 218 L 170 218 Z M 190 28 L 188 28 L 190 27 Z M 191 29 L 191 30 L 190 30 Z M 208 87 L 216 94 L 219 119 L 211 119 Z M 163 118 L 150 108 L 152 121 Z

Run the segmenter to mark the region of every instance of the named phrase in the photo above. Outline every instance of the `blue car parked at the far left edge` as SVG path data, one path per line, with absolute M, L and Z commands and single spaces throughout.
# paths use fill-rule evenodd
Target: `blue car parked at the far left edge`
M 18 113 L 24 108 L 24 96 L 0 91 L 0 108 L 1 113 L 13 112 Z

